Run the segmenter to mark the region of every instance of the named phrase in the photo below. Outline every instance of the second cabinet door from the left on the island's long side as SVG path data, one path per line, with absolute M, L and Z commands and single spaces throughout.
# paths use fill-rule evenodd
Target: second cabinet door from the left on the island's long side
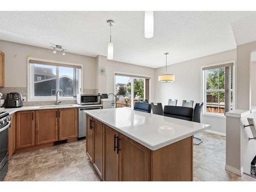
M 103 167 L 103 124 L 94 119 L 92 123 L 93 129 L 93 165 L 96 168 L 100 178 L 102 179 Z

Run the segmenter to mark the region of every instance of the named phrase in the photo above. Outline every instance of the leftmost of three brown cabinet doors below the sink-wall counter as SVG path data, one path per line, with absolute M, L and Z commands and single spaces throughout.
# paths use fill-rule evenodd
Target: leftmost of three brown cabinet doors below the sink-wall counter
M 35 145 L 35 111 L 16 113 L 16 148 Z

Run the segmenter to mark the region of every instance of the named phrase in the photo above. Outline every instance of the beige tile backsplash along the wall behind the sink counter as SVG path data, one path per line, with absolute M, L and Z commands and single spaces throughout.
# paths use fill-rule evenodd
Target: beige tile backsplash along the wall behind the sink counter
M 17 87 L 0 87 L 0 93 L 3 93 L 3 98 L 6 98 L 7 93 L 17 92 L 21 93 L 23 97 L 28 99 L 28 89 L 26 87 L 17 88 Z M 83 94 L 98 94 L 98 89 L 83 89 Z M 76 100 L 65 100 L 61 101 L 61 104 L 75 104 Z M 55 101 L 24 101 L 24 106 L 37 106 L 37 105 L 51 105 L 55 104 Z

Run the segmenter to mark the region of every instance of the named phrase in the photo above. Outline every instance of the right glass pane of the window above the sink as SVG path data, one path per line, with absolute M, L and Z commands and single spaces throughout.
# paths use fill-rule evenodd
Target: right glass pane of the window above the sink
M 63 91 L 64 97 L 74 96 L 74 68 L 59 68 L 59 90 Z M 60 94 L 60 96 L 62 96 Z

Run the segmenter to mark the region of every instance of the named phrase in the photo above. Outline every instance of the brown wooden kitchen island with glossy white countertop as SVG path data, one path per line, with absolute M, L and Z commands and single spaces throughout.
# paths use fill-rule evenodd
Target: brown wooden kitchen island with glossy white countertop
M 116 108 L 85 111 L 86 152 L 103 181 L 193 181 L 193 135 L 210 125 Z

